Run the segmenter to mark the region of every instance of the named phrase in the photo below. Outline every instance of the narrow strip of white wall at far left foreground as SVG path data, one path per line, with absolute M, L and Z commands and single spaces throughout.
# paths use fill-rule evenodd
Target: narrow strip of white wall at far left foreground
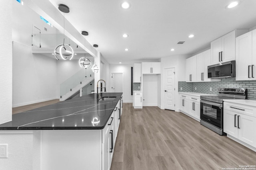
M 12 120 L 12 2 L 0 1 L 0 124 Z

